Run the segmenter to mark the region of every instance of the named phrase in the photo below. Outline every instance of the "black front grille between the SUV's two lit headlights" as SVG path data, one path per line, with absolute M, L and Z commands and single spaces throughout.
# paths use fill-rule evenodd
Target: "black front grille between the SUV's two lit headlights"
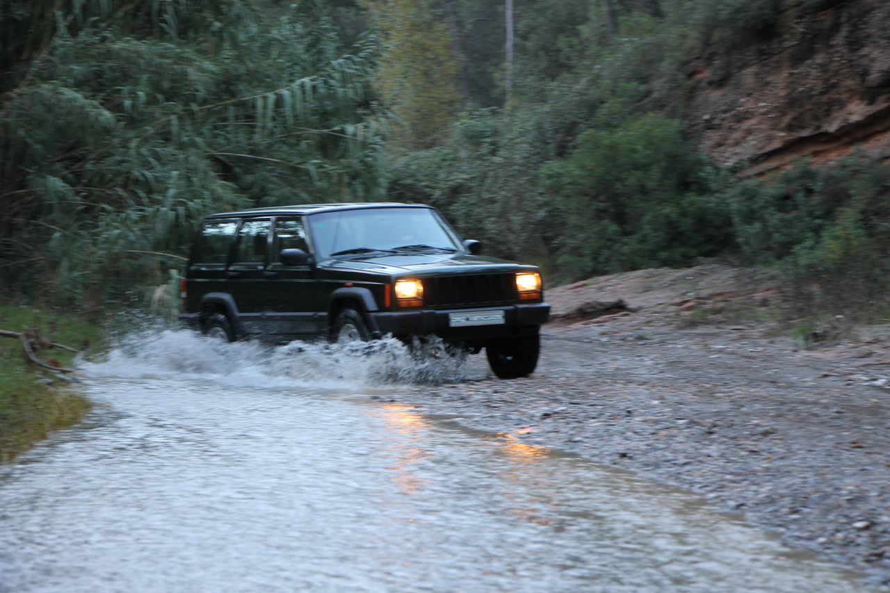
M 514 273 L 424 278 L 424 305 L 488 306 L 518 300 Z

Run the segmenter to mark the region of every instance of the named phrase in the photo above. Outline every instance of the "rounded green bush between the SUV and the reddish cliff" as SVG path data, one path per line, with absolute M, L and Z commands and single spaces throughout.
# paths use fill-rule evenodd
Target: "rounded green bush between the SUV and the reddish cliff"
M 560 261 L 576 278 L 690 264 L 731 241 L 728 212 L 711 197 L 720 175 L 673 119 L 589 130 L 541 178 L 566 212 Z

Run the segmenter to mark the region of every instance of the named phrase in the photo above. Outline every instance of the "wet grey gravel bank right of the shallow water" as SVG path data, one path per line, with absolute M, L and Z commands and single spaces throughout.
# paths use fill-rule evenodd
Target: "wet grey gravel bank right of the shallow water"
M 755 329 L 613 324 L 546 329 L 531 378 L 469 364 L 400 401 L 689 489 L 890 590 L 890 365 Z

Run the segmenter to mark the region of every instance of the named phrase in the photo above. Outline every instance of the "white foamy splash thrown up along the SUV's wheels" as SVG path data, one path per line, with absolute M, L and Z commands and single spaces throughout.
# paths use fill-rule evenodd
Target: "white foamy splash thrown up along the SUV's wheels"
M 465 379 L 466 353 L 437 338 L 412 347 L 389 337 L 330 345 L 224 343 L 184 329 L 149 329 L 121 340 L 103 362 L 83 362 L 91 377 L 211 379 L 235 386 L 354 388 Z

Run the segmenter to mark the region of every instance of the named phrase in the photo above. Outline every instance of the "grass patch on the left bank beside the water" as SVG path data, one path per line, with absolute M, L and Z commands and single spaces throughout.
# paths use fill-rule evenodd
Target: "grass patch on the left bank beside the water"
M 31 328 L 53 342 L 75 348 L 101 342 L 100 330 L 92 323 L 25 306 L 0 305 L 0 329 L 18 332 Z M 42 356 L 52 356 L 65 367 L 74 358 L 74 354 L 58 349 Z M 78 393 L 77 386 L 36 370 L 18 341 L 0 338 L 0 463 L 27 451 L 53 430 L 77 423 L 89 409 L 90 402 Z

